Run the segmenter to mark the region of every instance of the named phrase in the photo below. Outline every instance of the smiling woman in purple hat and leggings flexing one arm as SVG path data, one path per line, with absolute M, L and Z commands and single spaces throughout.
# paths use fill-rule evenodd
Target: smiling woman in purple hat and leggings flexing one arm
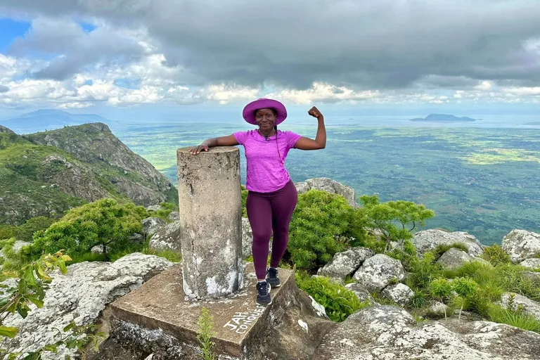
M 257 304 L 271 304 L 270 289 L 278 287 L 278 265 L 289 241 L 289 223 L 298 201 L 298 193 L 285 158 L 291 148 L 323 149 L 326 146 L 324 117 L 313 107 L 308 114 L 319 122 L 315 140 L 291 131 L 278 130 L 287 117 L 285 106 L 276 100 L 259 98 L 245 106 L 243 117 L 258 129 L 238 131 L 229 136 L 207 139 L 191 150 L 193 155 L 214 146 L 242 145 L 247 160 L 246 209 L 253 231 L 253 263 L 257 274 Z M 270 266 L 266 269 L 270 237 L 274 233 Z

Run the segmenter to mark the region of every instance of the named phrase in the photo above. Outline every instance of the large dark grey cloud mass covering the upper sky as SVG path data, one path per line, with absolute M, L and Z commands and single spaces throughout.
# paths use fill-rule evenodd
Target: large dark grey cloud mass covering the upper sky
M 4 6 L 141 27 L 167 64 L 181 65 L 198 86 L 402 89 L 432 75 L 540 83 L 536 1 L 6 0 Z

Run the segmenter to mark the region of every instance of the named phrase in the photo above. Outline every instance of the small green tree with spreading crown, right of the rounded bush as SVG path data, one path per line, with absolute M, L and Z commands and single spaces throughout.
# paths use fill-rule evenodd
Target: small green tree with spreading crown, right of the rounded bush
M 412 238 L 411 231 L 417 226 L 425 226 L 425 220 L 435 216 L 433 210 L 411 201 L 380 203 L 377 195 L 363 195 L 360 200 L 364 204 L 366 218 L 371 221 L 368 227 L 382 232 L 382 237 L 386 241 L 385 251 L 390 250 L 392 241 L 397 241 L 401 245 L 404 240 Z

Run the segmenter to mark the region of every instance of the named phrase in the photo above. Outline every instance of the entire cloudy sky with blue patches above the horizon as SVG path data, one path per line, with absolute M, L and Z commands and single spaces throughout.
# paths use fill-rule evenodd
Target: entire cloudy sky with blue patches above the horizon
M 241 113 L 260 97 L 540 113 L 540 1 L 0 0 L 0 118 Z

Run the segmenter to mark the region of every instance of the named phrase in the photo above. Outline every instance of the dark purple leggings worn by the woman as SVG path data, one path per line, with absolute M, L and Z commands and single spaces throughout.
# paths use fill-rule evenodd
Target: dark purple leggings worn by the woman
M 297 202 L 298 193 L 293 181 L 271 193 L 248 192 L 245 207 L 253 231 L 253 264 L 257 278 L 266 278 L 266 262 L 272 233 L 274 240 L 270 266 L 278 267 L 285 254 L 289 242 L 290 218 Z

